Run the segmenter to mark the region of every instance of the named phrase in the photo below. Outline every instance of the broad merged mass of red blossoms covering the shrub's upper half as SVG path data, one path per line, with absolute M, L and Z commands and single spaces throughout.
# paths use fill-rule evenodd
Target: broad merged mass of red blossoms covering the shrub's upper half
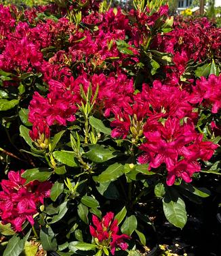
M 182 76 L 191 61 L 212 63 L 220 58 L 220 29 L 201 18 L 175 20 L 174 30 L 166 33 L 160 27 L 170 21 L 167 6 L 157 12 L 146 8 L 124 15 L 120 8 L 98 12 L 98 4 L 82 9 L 79 26 L 71 22 L 72 7 L 57 22 L 35 19 L 45 11 L 41 7 L 26 12 L 25 20 L 16 24 L 19 19 L 14 16 L 20 12 L 0 5 L 7 21 L 0 22 L 0 69 L 18 75 L 13 84 L 33 71 L 49 85 L 44 95 L 35 91 L 28 107 L 33 141 L 47 147 L 53 125 L 76 121 L 80 86 L 85 93 L 90 85 L 93 93 L 99 86 L 94 110 L 111 119 L 112 137 L 137 143 L 138 162 L 148 163 L 149 169 L 160 169 L 165 163 L 168 185 L 176 177 L 190 182 L 193 173 L 201 170 L 199 161 L 210 159 L 217 148 L 203 141 L 195 124 L 197 108 L 212 109 L 212 114 L 220 110 L 221 76 L 199 80 Z M 60 12 L 54 5 L 48 8 L 52 14 Z M 172 59 L 173 65 L 159 65 L 164 73 L 149 79 L 148 65 L 155 61 L 151 58 L 156 52 L 160 61 Z M 165 56 L 168 52 L 171 57 Z

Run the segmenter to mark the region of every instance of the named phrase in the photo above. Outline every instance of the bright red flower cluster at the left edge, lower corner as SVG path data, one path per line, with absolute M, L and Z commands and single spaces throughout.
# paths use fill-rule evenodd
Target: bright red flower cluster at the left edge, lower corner
M 3 223 L 11 223 L 16 231 L 22 231 L 24 221 L 34 225 L 33 216 L 38 212 L 37 206 L 43 204 L 43 199 L 49 197 L 51 182 L 30 182 L 24 185 L 26 180 L 20 172 L 10 171 L 8 180 L 1 180 L 0 191 L 0 215 Z

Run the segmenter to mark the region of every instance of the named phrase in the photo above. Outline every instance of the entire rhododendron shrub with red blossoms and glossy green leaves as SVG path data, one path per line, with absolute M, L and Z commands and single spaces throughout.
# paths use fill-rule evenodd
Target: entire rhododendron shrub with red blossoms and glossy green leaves
M 4 256 L 26 240 L 132 255 L 153 212 L 182 228 L 188 199 L 209 196 L 197 184 L 220 174 L 220 29 L 159 2 L 0 5 Z

